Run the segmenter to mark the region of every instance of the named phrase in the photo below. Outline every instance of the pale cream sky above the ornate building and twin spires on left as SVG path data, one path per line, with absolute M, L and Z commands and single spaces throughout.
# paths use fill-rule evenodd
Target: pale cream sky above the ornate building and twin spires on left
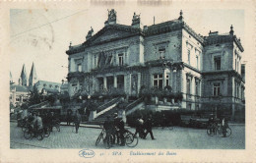
M 10 10 L 10 71 L 13 81 L 18 83 L 25 64 L 29 78 L 34 63 L 37 78 L 42 81 L 61 82 L 68 74 L 68 50 L 72 45 L 81 44 L 91 27 L 95 33 L 104 27 L 107 9 L 92 7 L 78 10 L 57 9 L 12 9 Z M 141 15 L 143 26 L 177 19 L 180 9 L 169 7 L 114 8 L 117 23 L 131 25 L 133 13 Z M 243 10 L 183 10 L 185 23 L 197 33 L 208 35 L 209 31 L 229 32 L 244 38 Z M 246 55 L 243 56 L 246 60 Z

